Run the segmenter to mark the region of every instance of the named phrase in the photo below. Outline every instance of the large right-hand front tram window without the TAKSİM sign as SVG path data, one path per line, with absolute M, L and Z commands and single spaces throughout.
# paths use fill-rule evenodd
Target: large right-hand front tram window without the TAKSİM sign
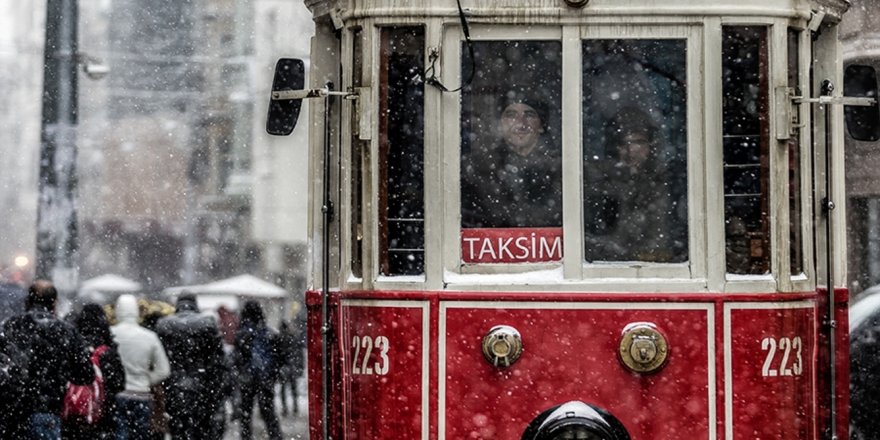
M 583 42 L 587 262 L 688 259 L 684 40 Z

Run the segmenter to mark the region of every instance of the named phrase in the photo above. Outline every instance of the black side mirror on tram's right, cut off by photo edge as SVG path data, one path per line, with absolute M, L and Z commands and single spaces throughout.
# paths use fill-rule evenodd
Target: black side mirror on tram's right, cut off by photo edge
M 880 140 L 880 106 L 877 100 L 877 72 L 871 66 L 853 64 L 843 75 L 843 94 L 847 97 L 874 98 L 870 106 L 843 107 L 846 128 L 858 141 Z

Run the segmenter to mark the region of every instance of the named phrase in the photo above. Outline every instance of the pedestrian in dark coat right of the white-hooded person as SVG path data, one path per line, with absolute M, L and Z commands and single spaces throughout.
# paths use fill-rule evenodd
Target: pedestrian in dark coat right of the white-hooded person
M 223 403 L 229 391 L 217 322 L 199 313 L 194 295 L 183 293 L 175 313 L 156 323 L 156 333 L 171 364 L 171 376 L 163 388 L 172 438 L 222 438 Z

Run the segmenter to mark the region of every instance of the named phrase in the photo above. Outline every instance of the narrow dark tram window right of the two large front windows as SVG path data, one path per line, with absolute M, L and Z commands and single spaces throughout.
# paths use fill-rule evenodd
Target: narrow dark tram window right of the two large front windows
M 722 31 L 727 272 L 770 271 L 767 28 Z

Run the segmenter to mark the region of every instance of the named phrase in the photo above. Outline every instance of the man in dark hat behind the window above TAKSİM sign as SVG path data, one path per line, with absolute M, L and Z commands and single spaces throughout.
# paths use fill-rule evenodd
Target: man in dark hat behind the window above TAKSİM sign
M 562 160 L 545 139 L 546 107 L 519 93 L 499 102 L 495 142 L 462 160 L 462 226 L 560 226 Z

